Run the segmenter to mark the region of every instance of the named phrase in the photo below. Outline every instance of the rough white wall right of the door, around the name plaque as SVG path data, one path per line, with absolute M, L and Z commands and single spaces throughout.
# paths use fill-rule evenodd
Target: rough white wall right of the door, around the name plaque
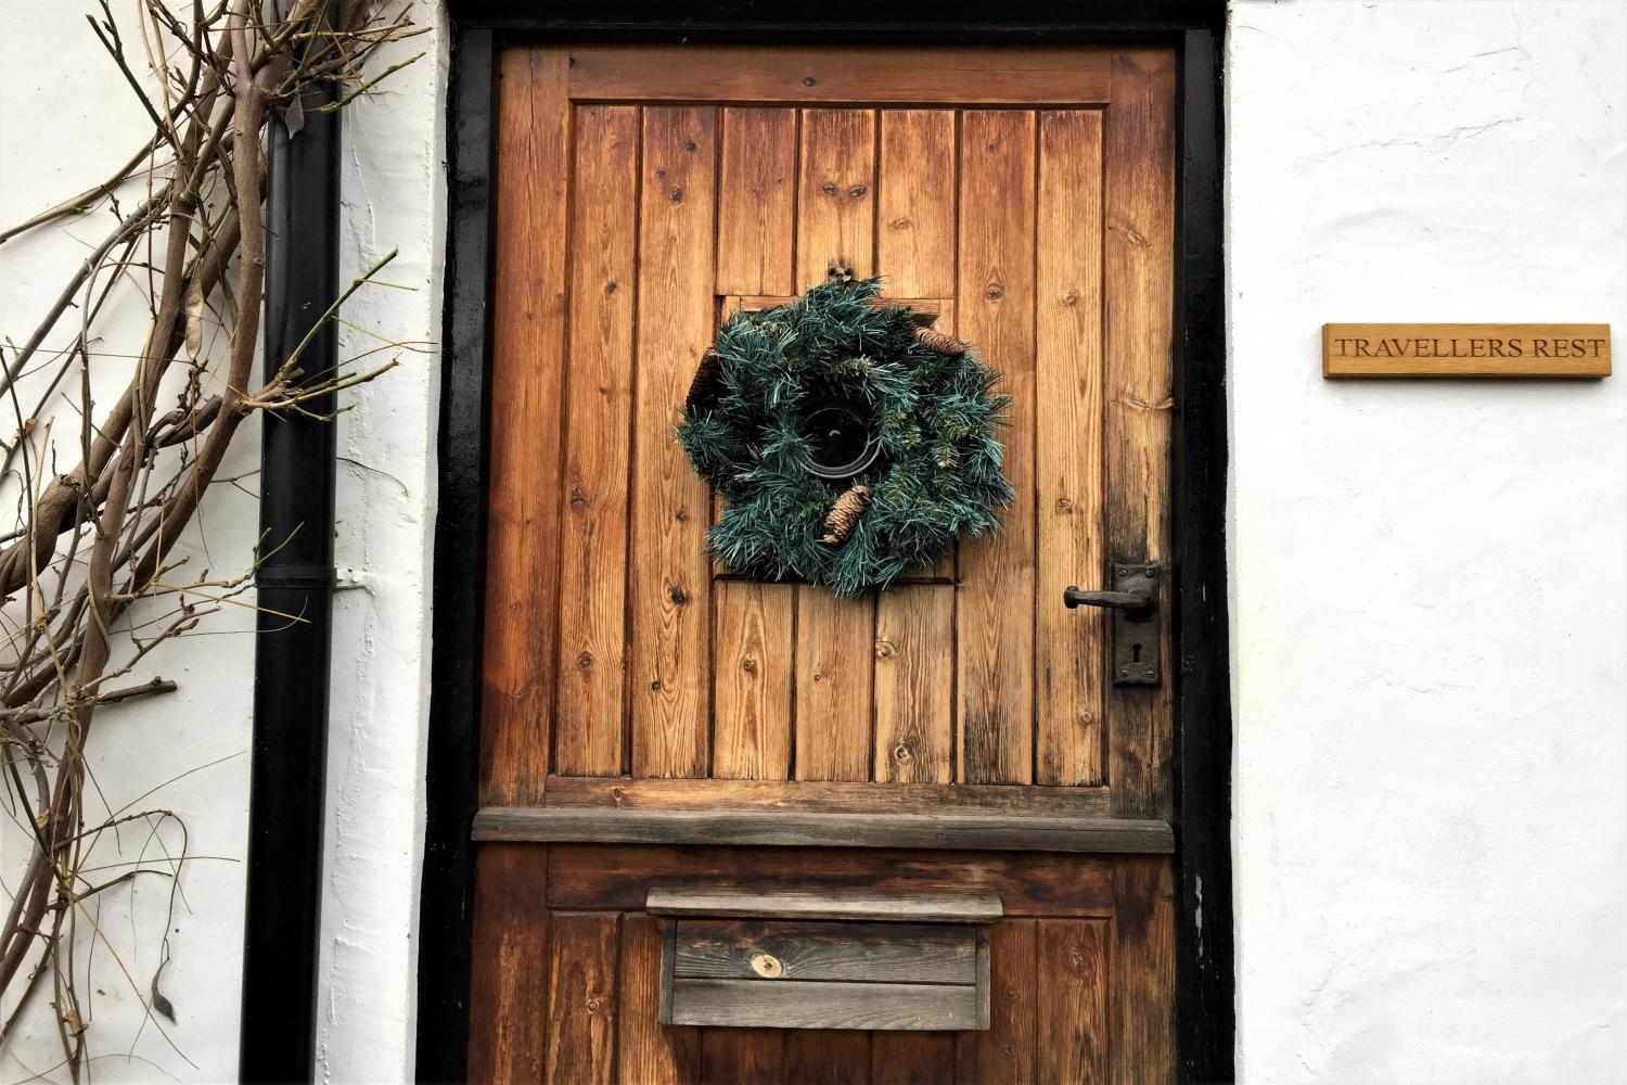
M 1237 0 L 1227 78 L 1241 1072 L 1627 1080 L 1627 373 L 1318 366 L 1627 345 L 1627 8 Z

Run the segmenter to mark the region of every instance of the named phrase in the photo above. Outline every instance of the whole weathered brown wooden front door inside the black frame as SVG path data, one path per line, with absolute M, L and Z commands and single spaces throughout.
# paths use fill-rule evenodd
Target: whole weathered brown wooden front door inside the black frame
M 1173 54 L 514 47 L 498 102 L 472 1075 L 1171 1077 L 1170 669 L 1062 590 L 1170 553 Z M 1012 397 L 1001 534 L 859 600 L 714 568 L 674 439 L 833 262 Z M 662 1025 L 652 888 L 992 895 L 988 1028 Z

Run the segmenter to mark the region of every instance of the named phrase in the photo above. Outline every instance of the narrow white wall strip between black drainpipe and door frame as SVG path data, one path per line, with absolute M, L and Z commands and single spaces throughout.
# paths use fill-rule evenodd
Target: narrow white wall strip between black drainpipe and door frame
M 397 249 L 381 278 L 408 288 L 368 291 L 348 319 L 415 350 L 340 418 L 335 563 L 350 589 L 334 623 L 317 1026 L 332 1082 L 410 1080 L 417 1043 L 451 39 L 438 2 L 417 0 L 413 21 L 428 33 L 374 67 L 425 55 L 343 127 L 342 278 Z M 358 330 L 340 337 L 342 356 L 376 346 Z

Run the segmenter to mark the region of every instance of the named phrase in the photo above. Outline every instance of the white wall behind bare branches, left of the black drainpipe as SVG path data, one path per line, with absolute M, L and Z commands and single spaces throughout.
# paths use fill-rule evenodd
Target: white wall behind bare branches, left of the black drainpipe
M 0 221 L 7 226 L 106 181 L 137 150 L 143 129 L 150 130 L 140 104 L 85 24 L 86 10 L 91 5 L 0 0 L 0 26 L 8 28 L 0 34 Z M 120 15 L 129 15 L 127 5 Z M 26 340 L 67 275 L 112 221 L 104 210 L 65 229 L 36 231 L 0 247 L 0 337 Z M 130 379 L 132 355 L 142 348 L 142 312 L 143 303 L 130 298 L 122 307 L 104 309 L 91 329 L 91 373 L 103 402 Z M 70 316 L 46 342 L 65 343 L 73 327 Z M 42 390 L 39 379 L 33 389 L 23 395 L 28 405 Z M 16 428 L 11 410 L 7 400 L 8 421 L 0 429 L 8 441 Z M 57 425 L 78 421 L 67 415 Z M 70 439 L 62 455 L 72 459 L 59 462 L 57 470 L 78 462 L 75 447 Z M 259 425 L 251 421 L 220 477 L 252 475 L 257 468 Z M 0 522 L 7 529 L 16 508 L 13 483 L 0 483 Z M 252 488 L 252 477 L 244 485 Z M 202 532 L 190 534 L 176 550 L 187 560 L 177 576 L 202 569 L 241 573 L 252 561 L 255 534 L 255 501 L 242 490 L 215 486 Z M 241 602 L 252 605 L 252 590 Z M 93 961 L 91 983 L 81 991 L 93 1013 L 89 1072 L 98 1082 L 236 1077 L 252 630 L 249 608 L 225 607 L 197 636 L 164 644 L 132 675 L 132 682 L 151 675 L 172 678 L 179 683 L 176 693 L 96 712 L 88 750 L 98 791 L 89 813 L 101 817 L 103 800 L 112 810 L 135 802 L 132 812 L 166 808 L 176 820 L 164 823 L 156 839 L 143 823 L 125 825 L 117 838 L 109 833 L 89 865 L 106 865 L 101 874 L 106 878 L 129 869 L 111 864 L 142 854 L 179 856 L 181 823 L 187 852 L 194 856 L 182 867 L 182 895 L 172 913 L 171 885 L 158 875 L 101 893 L 88 904 L 106 932 L 103 942 L 83 922 L 76 950 L 80 961 Z M 10 903 L 28 852 L 28 836 L 0 817 L 0 901 Z M 142 1009 L 163 958 L 166 927 L 171 961 L 159 989 L 174 1005 L 174 1025 L 145 1020 Z M 50 992 L 42 994 L 0 1052 L 3 1082 L 34 1074 L 50 1082 L 67 1080 L 57 1069 L 60 1044 L 47 1005 Z

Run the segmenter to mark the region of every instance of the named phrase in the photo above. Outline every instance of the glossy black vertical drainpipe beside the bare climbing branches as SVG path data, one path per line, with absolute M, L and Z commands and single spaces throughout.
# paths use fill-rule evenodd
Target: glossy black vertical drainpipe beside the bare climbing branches
M 277 10 L 286 15 L 288 0 Z M 327 18 L 338 20 L 338 0 Z M 306 338 L 338 294 L 338 114 L 330 86 L 304 98 L 294 135 L 268 127 L 265 192 L 265 373 Z M 299 368 L 334 373 L 334 325 Z M 330 402 L 306 403 L 316 415 Z M 260 441 L 259 634 L 249 789 L 247 916 L 242 937 L 244 1082 L 311 1082 L 322 919 L 329 647 L 334 612 L 334 425 L 264 416 Z M 290 620 L 285 615 L 298 615 Z

